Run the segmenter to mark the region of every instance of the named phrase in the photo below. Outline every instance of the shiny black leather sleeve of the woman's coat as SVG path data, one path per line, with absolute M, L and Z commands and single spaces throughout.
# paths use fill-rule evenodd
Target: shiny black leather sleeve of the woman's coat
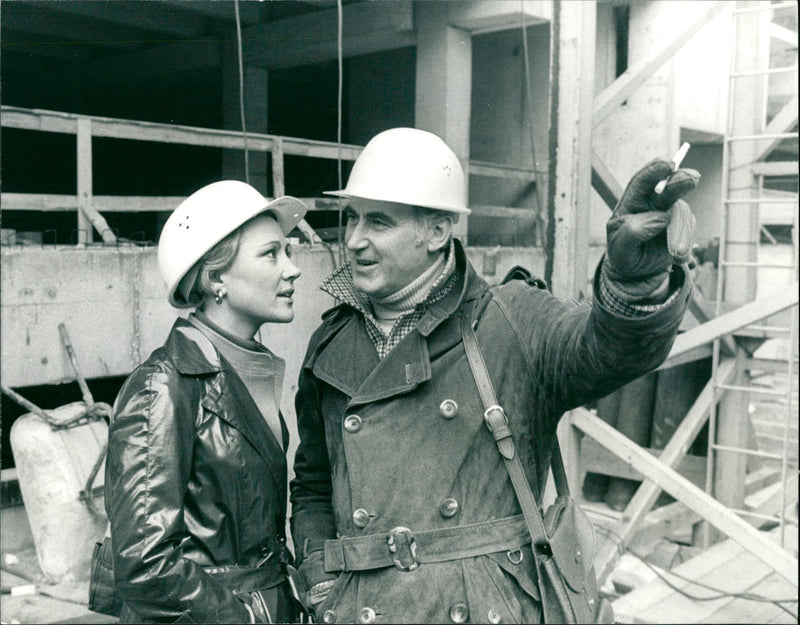
M 146 622 L 247 623 L 244 603 L 182 555 L 194 384 L 157 363 L 137 369 L 117 398 L 105 482 L 116 589 Z

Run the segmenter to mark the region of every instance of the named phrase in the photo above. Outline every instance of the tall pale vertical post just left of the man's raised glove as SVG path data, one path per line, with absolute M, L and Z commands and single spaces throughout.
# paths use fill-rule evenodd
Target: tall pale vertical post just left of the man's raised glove
M 550 186 L 545 279 L 562 297 L 587 286 L 591 201 L 594 2 L 557 2 L 550 37 Z

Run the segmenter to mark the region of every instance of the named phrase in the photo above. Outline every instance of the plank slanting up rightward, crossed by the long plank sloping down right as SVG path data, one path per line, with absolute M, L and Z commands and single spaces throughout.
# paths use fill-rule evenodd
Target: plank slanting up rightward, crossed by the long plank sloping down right
M 725 383 L 733 377 L 734 371 L 734 362 L 732 360 L 723 361 L 719 364 L 718 379 L 722 381 L 722 383 Z M 714 399 L 716 399 L 716 397 L 714 394 L 713 382 L 709 381 L 697 396 L 692 407 L 686 413 L 686 417 L 684 417 L 681 424 L 675 430 L 669 443 L 664 447 L 664 450 L 658 458 L 659 462 L 664 463 L 665 466 L 670 468 L 678 464 L 680 459 L 689 450 L 694 439 L 697 438 L 697 434 L 703 428 L 706 421 L 708 421 L 708 411 Z M 613 528 L 623 547 L 630 543 L 637 526 L 644 518 L 646 512 L 653 507 L 660 492 L 661 489 L 652 481 L 643 482 L 636 490 L 636 493 L 625 508 L 622 521 Z M 594 564 L 597 578 L 601 582 L 605 580 L 611 572 L 614 562 L 618 557 L 618 553 L 616 545 L 610 543 L 602 545 L 598 550 Z

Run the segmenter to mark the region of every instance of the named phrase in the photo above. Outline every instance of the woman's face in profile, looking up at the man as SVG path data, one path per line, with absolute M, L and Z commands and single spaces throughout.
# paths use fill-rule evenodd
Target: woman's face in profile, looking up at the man
M 294 319 L 294 281 L 300 270 L 291 254 L 291 246 L 272 217 L 259 215 L 242 226 L 239 251 L 219 274 L 226 291 L 224 305 L 237 325 L 257 330 L 266 322 Z

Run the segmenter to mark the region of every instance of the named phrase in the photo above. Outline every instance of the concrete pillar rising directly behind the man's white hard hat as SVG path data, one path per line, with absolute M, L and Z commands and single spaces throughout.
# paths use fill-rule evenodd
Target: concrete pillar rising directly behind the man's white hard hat
M 417 128 L 436 133 L 453 149 L 469 180 L 469 123 L 472 92 L 472 36 L 449 25 L 449 2 L 415 6 L 417 33 Z M 466 239 L 462 215 L 455 235 Z

